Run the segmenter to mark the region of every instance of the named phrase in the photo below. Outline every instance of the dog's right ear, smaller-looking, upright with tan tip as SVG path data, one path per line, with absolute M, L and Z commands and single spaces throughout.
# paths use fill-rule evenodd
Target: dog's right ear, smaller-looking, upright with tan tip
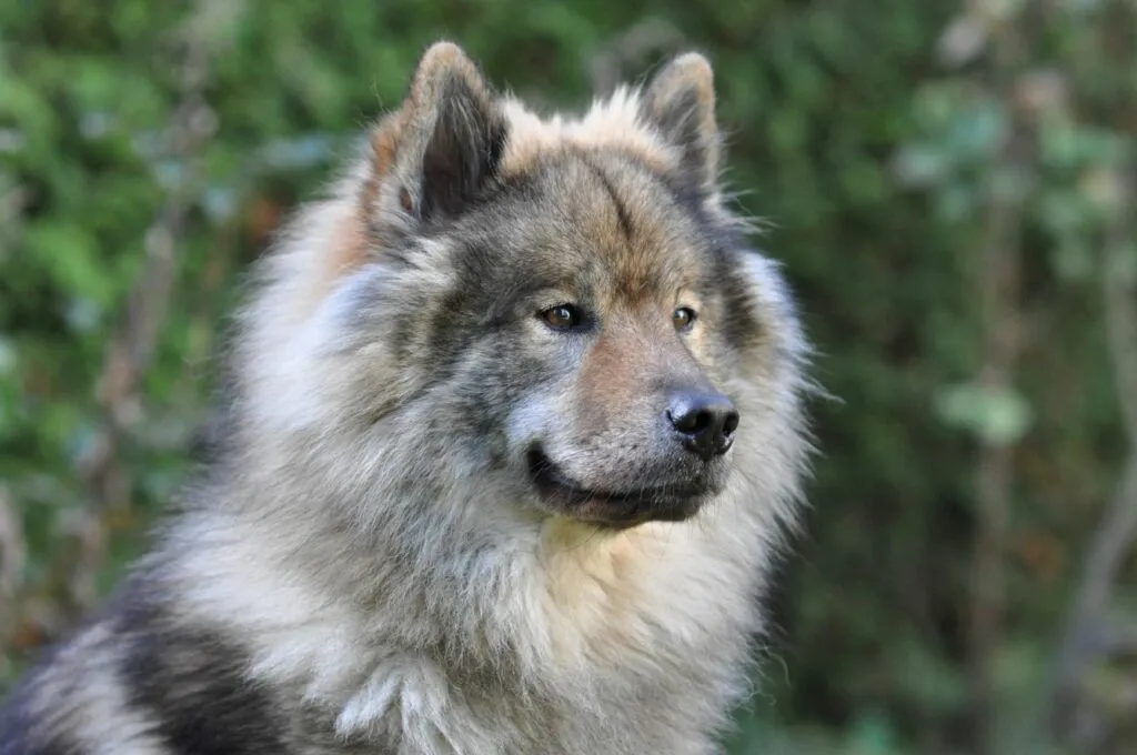
M 680 150 L 680 168 L 700 189 L 719 179 L 714 70 L 698 52 L 666 64 L 644 90 L 644 118 Z

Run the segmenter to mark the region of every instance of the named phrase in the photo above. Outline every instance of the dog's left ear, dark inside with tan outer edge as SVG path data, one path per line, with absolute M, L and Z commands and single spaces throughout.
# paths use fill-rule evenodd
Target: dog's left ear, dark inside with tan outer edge
M 506 141 L 498 99 L 456 44 L 432 44 L 402 107 L 372 133 L 381 211 L 429 223 L 465 209 L 497 172 Z

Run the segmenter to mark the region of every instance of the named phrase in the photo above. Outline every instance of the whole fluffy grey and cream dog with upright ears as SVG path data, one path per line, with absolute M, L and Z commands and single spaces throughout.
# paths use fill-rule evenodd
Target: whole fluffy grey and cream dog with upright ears
M 810 348 L 712 66 L 578 115 L 450 42 L 249 280 L 204 471 L 2 755 L 721 752 Z

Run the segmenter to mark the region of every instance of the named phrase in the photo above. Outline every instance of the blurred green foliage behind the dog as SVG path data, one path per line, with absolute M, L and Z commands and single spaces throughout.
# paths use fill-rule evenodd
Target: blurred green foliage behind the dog
M 1110 47 L 1109 14 L 1129 3 L 1044 5 L 1023 67 L 1054 72 L 1079 105 L 1031 131 L 1014 296 L 1027 335 L 1013 390 L 985 392 L 973 378 L 991 273 L 977 250 L 1013 125 L 981 55 L 956 68 L 937 55 L 965 3 L 0 1 L 0 689 L 82 609 L 83 580 L 97 576 L 89 599 L 105 594 L 144 547 L 188 470 L 241 271 L 356 130 L 399 101 L 425 44 L 459 41 L 492 80 L 549 107 L 582 106 L 604 61 L 638 76 L 695 47 L 716 69 L 728 179 L 770 221 L 761 243 L 785 262 L 816 376 L 839 399 L 814 406 L 813 508 L 771 598 L 774 642 L 732 752 L 980 746 L 974 722 L 990 712 L 976 711 L 966 625 L 991 446 L 1010 447 L 1012 473 L 997 752 L 1040 752 L 1022 732 L 1037 729 L 1030 712 L 1128 443 L 1098 285 L 1109 213 L 1093 179 L 1128 166 L 1137 121 L 1131 92 L 1117 99 L 1131 39 Z M 657 43 L 636 50 L 634 30 Z M 207 53 L 215 127 L 152 362 L 116 420 L 108 501 L 88 466 L 111 410 L 98 385 L 148 232 L 186 190 L 189 168 L 163 142 L 185 34 Z M 1124 64 L 1090 65 L 1110 50 Z M 1134 597 L 1119 592 L 1126 627 Z M 1103 685 L 1131 688 L 1114 666 L 1098 669 Z

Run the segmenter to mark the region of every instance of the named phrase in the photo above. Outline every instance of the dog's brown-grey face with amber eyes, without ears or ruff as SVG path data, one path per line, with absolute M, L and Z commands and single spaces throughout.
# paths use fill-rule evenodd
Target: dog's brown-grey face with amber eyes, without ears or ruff
M 679 520 L 725 482 L 732 287 L 692 202 L 633 156 L 565 149 L 432 235 L 457 276 L 435 364 L 550 511 Z

